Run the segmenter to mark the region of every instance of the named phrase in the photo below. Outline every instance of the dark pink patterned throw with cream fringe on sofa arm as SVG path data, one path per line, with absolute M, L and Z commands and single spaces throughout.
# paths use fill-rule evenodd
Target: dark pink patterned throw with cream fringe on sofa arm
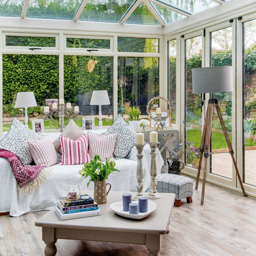
M 9 161 L 22 196 L 35 191 L 45 182 L 52 170 L 51 167 L 46 166 L 23 166 L 17 156 L 7 150 L 0 150 L 0 157 Z

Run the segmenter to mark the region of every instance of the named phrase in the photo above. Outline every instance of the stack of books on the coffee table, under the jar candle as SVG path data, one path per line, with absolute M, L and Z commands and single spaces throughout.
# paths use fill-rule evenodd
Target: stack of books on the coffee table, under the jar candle
M 81 197 L 82 196 L 88 195 L 81 195 Z M 87 200 L 78 199 L 74 201 L 68 200 L 67 196 L 61 197 L 60 200 L 57 201 L 55 212 L 60 220 L 70 220 L 73 218 L 100 215 L 100 209 L 98 205 L 94 203 L 93 199 L 90 197 Z

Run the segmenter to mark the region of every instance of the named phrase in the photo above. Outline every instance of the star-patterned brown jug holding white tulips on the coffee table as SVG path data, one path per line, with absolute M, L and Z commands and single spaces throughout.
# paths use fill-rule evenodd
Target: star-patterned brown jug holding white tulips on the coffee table
M 106 159 L 106 163 L 103 164 L 100 160 L 100 156 L 96 155 L 88 164 L 84 164 L 82 170 L 79 171 L 83 177 L 90 177 L 87 186 L 89 186 L 90 181 L 94 182 L 94 200 L 97 204 L 107 203 L 107 194 L 111 189 L 111 184 L 106 183 L 106 179 L 110 173 L 118 171 L 114 167 L 115 161 L 111 157 Z M 107 185 L 110 186 L 108 191 Z

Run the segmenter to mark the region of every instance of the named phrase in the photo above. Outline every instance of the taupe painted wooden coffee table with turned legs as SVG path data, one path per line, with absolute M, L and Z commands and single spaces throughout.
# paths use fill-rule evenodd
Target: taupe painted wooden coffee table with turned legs
M 45 256 L 56 255 L 57 239 L 146 245 L 150 256 L 158 256 L 161 235 L 166 234 L 168 229 L 175 194 L 161 193 L 161 198 L 153 200 L 156 203 L 153 213 L 142 220 L 131 220 L 118 216 L 109 207 L 111 203 L 122 201 L 123 193 L 110 191 L 107 203 L 99 205 L 100 216 L 61 221 L 52 209 L 39 218 L 35 225 L 42 227 Z M 93 196 L 93 191 L 82 191 L 82 194 Z

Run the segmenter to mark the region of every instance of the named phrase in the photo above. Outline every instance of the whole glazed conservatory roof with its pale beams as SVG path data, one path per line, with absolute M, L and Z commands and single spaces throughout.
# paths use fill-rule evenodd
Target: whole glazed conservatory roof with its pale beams
M 0 16 L 165 26 L 228 0 L 0 0 Z

